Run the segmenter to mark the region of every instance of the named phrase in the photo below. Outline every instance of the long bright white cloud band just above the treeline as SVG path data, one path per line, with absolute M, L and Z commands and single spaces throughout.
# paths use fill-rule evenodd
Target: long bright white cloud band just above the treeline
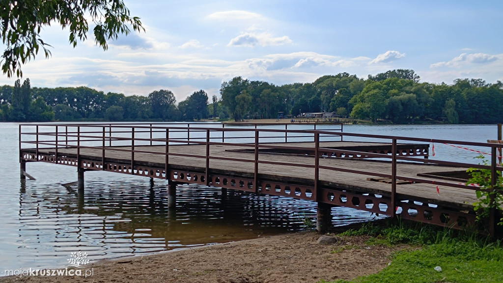
M 67 57 L 56 54 L 48 60 L 28 63 L 24 70 L 37 87 L 88 86 L 105 92 L 147 95 L 170 89 L 177 101 L 194 90 L 217 90 L 222 80 L 242 76 L 274 84 L 312 82 L 324 74 L 352 72 L 352 66 L 367 65 L 368 58 L 343 58 L 316 52 L 277 53 L 235 60 L 211 59 L 201 54 L 134 51 L 115 58 Z M 350 67 L 346 67 L 350 66 Z M 51 70 L 51 79 L 46 71 Z M 5 81 L 5 80 L 4 80 Z M 12 82 L 5 82 L 12 84 Z

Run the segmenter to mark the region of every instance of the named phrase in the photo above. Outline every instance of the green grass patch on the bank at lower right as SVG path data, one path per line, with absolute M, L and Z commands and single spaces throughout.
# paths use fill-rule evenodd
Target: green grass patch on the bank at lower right
M 339 236 L 368 235 L 370 245 L 409 244 L 396 252 L 382 271 L 334 283 L 503 282 L 503 244 L 475 231 L 456 231 L 422 224 L 379 226 L 368 223 Z M 441 271 L 435 268 L 440 266 Z M 437 267 L 438 269 L 438 267 Z M 325 281 L 322 281 L 325 282 Z

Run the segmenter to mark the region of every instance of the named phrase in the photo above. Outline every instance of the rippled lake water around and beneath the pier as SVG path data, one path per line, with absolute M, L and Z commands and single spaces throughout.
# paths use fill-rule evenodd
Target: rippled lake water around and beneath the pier
M 345 125 L 344 131 L 476 142 L 496 138 L 495 125 Z M 478 154 L 471 151 L 435 144 L 435 152 L 431 159 L 477 163 Z M 167 181 L 155 180 L 151 187 L 149 178 L 104 171 L 86 174 L 86 196 L 79 201 L 76 191 L 61 186 L 76 181 L 73 167 L 28 163 L 27 172 L 37 180 L 20 182 L 17 123 L 0 123 L 0 161 L 0 276 L 5 269 L 64 267 L 75 251 L 87 252 L 93 262 L 296 232 L 305 229 L 306 217 L 316 216 L 308 201 L 233 190 L 222 199 L 220 188 L 199 185 L 179 186 L 172 211 Z M 332 215 L 334 225 L 373 218 L 344 207 L 332 208 Z

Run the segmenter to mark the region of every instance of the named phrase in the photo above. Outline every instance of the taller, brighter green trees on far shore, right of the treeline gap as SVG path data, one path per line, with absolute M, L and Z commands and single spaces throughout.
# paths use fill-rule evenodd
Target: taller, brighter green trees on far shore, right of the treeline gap
M 341 73 L 314 83 L 275 86 L 236 77 L 220 89 L 222 102 L 236 119 L 275 118 L 278 112 L 336 112 L 341 117 L 387 119 L 393 123 L 503 121 L 503 84 L 458 79 L 453 85 L 420 83 L 410 69 L 390 70 L 367 80 Z

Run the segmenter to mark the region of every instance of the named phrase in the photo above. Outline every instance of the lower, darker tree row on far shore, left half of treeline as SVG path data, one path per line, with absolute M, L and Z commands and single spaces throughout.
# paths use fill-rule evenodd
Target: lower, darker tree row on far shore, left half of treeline
M 29 79 L 23 85 L 17 80 L 14 87 L 0 87 L 0 105 L 3 121 L 194 120 L 208 118 L 209 111 L 228 117 L 216 96 L 208 104 L 203 90 L 177 105 L 169 90 L 154 91 L 148 96 L 124 96 L 88 87 L 31 88 Z

